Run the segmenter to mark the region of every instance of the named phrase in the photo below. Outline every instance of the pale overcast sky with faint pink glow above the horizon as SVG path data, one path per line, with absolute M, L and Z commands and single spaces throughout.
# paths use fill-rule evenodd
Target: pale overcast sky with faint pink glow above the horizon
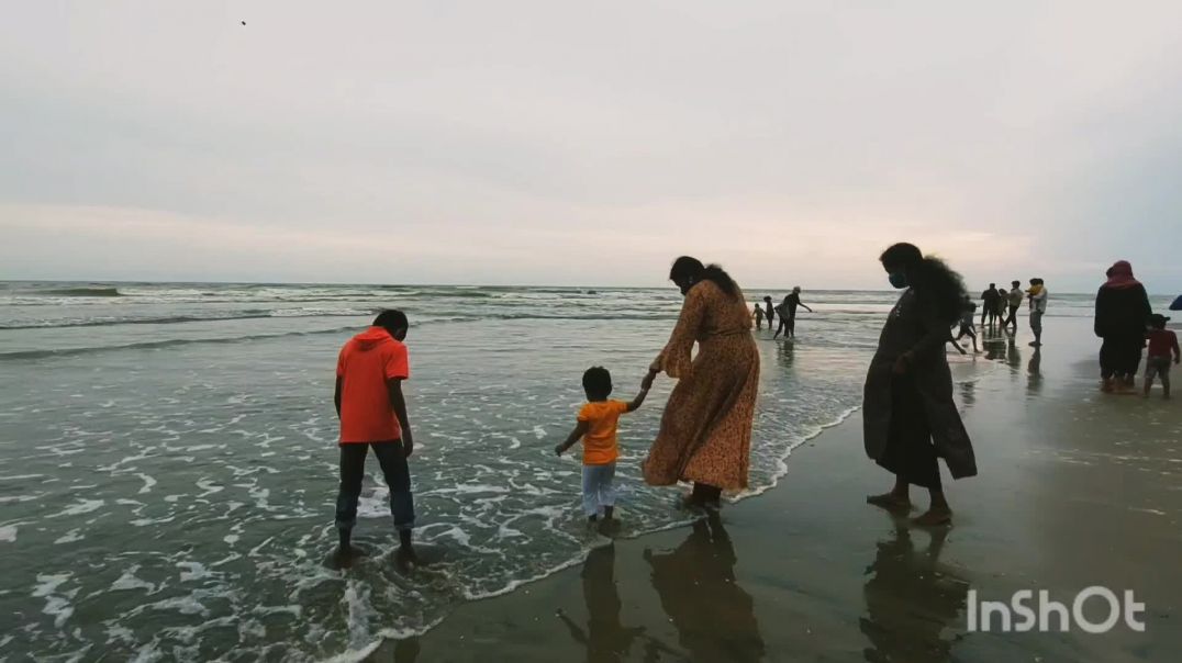
M 1174 294 L 1180 118 L 1176 1 L 17 2 L 0 279 Z

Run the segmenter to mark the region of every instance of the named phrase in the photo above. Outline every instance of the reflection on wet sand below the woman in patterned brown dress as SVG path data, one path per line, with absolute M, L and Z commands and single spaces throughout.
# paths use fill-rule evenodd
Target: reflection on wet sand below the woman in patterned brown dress
M 751 596 L 735 583 L 738 561 L 722 519 L 712 512 L 671 553 L 644 551 L 652 587 L 693 661 L 759 661 L 764 638 Z

